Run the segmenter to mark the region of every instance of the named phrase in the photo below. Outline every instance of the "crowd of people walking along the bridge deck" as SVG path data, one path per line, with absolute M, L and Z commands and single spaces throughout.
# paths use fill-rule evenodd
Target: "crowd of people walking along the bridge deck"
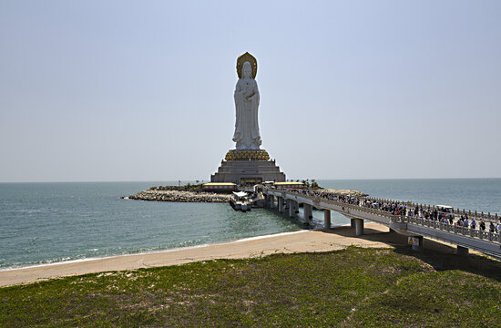
M 479 219 L 478 221 L 476 221 L 475 218 L 470 219 L 467 213 L 461 215 L 459 219 L 456 219 L 453 213 L 445 213 L 436 208 L 423 208 L 423 206 L 415 204 L 410 206 L 409 203 L 407 202 L 382 201 L 366 197 L 338 195 L 333 193 L 322 192 L 322 190 L 293 189 L 284 191 L 292 191 L 308 196 L 321 197 L 326 200 L 339 201 L 346 204 L 358 205 L 364 208 L 384 210 L 392 213 L 393 215 L 416 217 L 425 220 L 435 220 L 450 225 L 454 224 L 460 227 L 466 227 L 475 230 L 477 229 L 479 231 L 487 230 L 487 225 L 485 220 Z M 497 222 L 489 221 L 488 231 L 501 233 L 501 219 L 499 219 Z

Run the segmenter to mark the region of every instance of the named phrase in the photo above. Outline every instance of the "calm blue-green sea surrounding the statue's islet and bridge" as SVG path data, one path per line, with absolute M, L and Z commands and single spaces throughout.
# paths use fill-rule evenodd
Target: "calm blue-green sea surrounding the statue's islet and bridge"
M 192 182 L 192 181 L 186 181 Z M 501 214 L 501 179 L 319 179 L 323 188 Z M 177 181 L 0 183 L 0 270 L 164 251 L 319 229 L 228 203 L 124 200 Z M 349 220 L 332 212 L 332 225 Z

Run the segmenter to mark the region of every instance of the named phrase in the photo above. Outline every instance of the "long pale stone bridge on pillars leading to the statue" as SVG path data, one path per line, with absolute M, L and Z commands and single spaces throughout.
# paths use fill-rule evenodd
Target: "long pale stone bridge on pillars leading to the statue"
M 304 220 L 312 220 L 313 207 L 323 210 L 324 227 L 331 227 L 331 210 L 342 213 L 351 219 L 352 228 L 355 235 L 363 234 L 363 221 L 370 220 L 387 226 L 391 231 L 404 234 L 413 244 L 413 249 L 419 251 L 423 246 L 423 238 L 429 238 L 437 241 L 445 241 L 454 244 L 457 247 L 458 254 L 467 254 L 468 250 L 483 252 L 487 255 L 501 259 L 501 233 L 495 229 L 494 232 L 471 227 L 457 226 L 455 224 L 445 223 L 439 220 L 425 219 L 414 215 L 407 215 L 404 210 L 402 215 L 396 215 L 392 211 L 373 208 L 368 204 L 377 202 L 397 203 L 404 205 L 406 209 L 414 208 L 434 208 L 430 205 L 415 204 L 412 202 L 403 202 L 397 200 L 383 200 L 369 197 L 359 197 L 355 203 L 343 199 L 343 197 L 326 197 L 322 194 L 316 194 L 312 190 L 278 190 L 273 188 L 264 188 L 265 207 L 276 209 L 280 213 L 287 213 L 289 217 L 294 217 L 299 213 L 299 206 L 302 204 L 304 211 Z M 486 223 L 499 222 L 496 215 L 484 212 L 477 213 L 465 210 L 454 210 L 455 215 L 467 215 L 468 218 L 475 220 L 484 220 Z

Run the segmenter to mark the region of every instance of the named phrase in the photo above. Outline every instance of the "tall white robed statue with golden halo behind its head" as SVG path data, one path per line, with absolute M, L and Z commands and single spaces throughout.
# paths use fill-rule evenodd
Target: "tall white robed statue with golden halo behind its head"
M 237 150 L 260 149 L 261 135 L 258 123 L 258 108 L 260 106 L 260 91 L 254 77 L 256 77 L 256 59 L 245 53 L 237 60 L 239 81 L 235 87 L 235 108 L 237 119 L 233 141 L 237 143 Z

